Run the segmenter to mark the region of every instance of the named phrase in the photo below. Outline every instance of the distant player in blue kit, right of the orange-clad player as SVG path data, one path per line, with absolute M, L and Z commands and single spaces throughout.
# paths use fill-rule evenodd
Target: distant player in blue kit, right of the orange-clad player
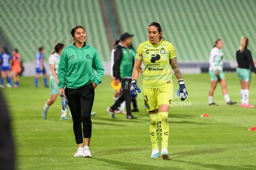
M 35 77 L 35 87 L 38 87 L 38 78 L 40 76 L 40 73 L 43 74 L 43 82 L 45 84 L 45 87 L 48 87 L 47 85 L 47 74 L 46 74 L 46 70 L 45 67 L 43 66 L 43 62 L 44 62 L 44 56 L 43 56 L 43 51 L 44 48 L 40 47 L 38 48 L 38 53 L 35 56 L 35 64 L 36 64 L 36 77 Z

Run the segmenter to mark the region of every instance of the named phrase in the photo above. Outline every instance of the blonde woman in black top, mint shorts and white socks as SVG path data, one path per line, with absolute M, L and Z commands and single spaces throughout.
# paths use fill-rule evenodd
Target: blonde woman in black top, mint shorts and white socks
M 255 106 L 249 104 L 249 87 L 250 87 L 250 69 L 256 74 L 254 66 L 254 60 L 252 54 L 248 49 L 249 39 L 245 36 L 241 38 L 241 46 L 236 51 L 237 69 L 236 73 L 241 83 L 241 107 L 242 108 L 254 108 Z

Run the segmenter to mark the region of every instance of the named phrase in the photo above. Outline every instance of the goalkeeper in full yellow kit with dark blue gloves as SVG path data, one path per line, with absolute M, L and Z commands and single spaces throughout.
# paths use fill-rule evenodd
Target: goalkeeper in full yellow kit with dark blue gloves
M 137 87 L 136 81 L 143 62 L 145 66 L 143 70 L 143 96 L 145 109 L 150 116 L 151 158 L 159 157 L 158 139 L 160 140 L 160 138 L 158 138 L 158 133 L 160 132 L 161 158 L 168 159 L 168 111 L 173 96 L 171 67 L 179 83 L 179 90 L 176 95 L 181 95 L 181 100 L 185 100 L 187 90 L 177 64 L 174 46 L 165 41 L 162 35 L 163 32 L 159 23 L 151 22 L 148 25 L 148 41 L 141 43 L 137 49 L 130 95 L 134 98 L 137 97 L 136 90 L 139 87 Z

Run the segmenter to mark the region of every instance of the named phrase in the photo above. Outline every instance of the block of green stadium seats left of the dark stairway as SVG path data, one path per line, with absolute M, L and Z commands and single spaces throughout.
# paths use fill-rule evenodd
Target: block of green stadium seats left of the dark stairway
M 19 49 L 24 62 L 34 61 L 39 46 L 48 57 L 58 41 L 70 45 L 70 28 L 75 25 L 85 27 L 87 43 L 99 51 L 103 61 L 110 58 L 99 1 L 9 0 L 0 1 L 0 6 L 2 33 Z

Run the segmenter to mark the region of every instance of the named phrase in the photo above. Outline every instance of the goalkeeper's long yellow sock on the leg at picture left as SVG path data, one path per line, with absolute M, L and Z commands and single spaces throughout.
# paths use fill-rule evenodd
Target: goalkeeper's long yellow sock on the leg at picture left
M 152 149 L 158 148 L 158 114 L 150 114 L 150 138 Z

